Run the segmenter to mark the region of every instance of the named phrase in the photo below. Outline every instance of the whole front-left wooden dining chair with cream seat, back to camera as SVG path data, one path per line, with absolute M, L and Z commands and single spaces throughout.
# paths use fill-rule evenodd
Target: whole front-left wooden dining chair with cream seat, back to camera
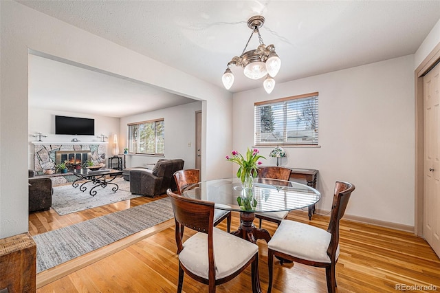
M 175 239 L 179 255 L 179 283 L 181 292 L 184 273 L 192 279 L 208 284 L 209 292 L 216 285 L 238 276 L 248 265 L 252 270 L 252 292 L 261 290 L 258 278 L 259 246 L 214 227 L 214 203 L 182 197 L 166 191 L 175 217 Z M 180 226 L 197 233 L 182 243 Z M 215 258 L 214 258 L 215 256 Z

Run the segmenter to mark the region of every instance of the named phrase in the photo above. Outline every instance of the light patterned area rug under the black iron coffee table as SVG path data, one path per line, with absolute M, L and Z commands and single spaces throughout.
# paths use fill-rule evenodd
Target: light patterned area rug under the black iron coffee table
M 91 196 L 89 193 L 90 188 L 94 187 L 91 182 L 85 184 L 87 190 L 84 192 L 80 191 L 79 186 L 74 188 L 72 184 L 55 186 L 54 195 L 52 195 L 52 208 L 58 215 L 62 216 L 140 196 L 130 193 L 130 182 L 125 181 L 122 177 L 116 178 L 113 182 L 118 184 L 118 191 L 113 192 L 111 190 L 113 184 L 109 184 L 105 188 L 98 186 L 94 189 L 96 191 L 95 196 Z

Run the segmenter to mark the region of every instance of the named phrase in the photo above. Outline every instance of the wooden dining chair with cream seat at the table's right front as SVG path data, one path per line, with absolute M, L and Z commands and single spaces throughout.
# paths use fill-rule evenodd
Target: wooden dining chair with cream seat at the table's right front
M 274 256 L 305 265 L 325 268 L 327 290 L 336 292 L 336 262 L 339 257 L 339 221 L 345 213 L 351 193 L 355 186 L 337 181 L 331 216 L 327 230 L 283 220 L 274 236 L 267 243 L 267 263 L 269 265 L 269 288 L 272 291 Z M 280 261 L 283 264 L 283 260 Z

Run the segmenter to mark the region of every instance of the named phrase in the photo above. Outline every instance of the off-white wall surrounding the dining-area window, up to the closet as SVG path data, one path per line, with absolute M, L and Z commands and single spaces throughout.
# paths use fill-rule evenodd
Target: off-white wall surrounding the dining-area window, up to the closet
M 356 186 L 347 215 L 414 226 L 413 57 L 281 83 L 270 95 L 263 88 L 234 94 L 232 145 L 252 146 L 254 102 L 318 91 L 321 147 L 285 148 L 283 165 L 319 170 L 317 208 L 330 210 L 343 180 Z M 269 158 L 271 149 L 261 153 Z

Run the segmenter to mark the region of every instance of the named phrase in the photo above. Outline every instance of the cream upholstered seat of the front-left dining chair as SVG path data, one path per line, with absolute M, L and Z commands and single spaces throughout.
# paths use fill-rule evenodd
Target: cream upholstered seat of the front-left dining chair
M 179 261 L 193 274 L 208 279 L 208 235 L 197 232 L 184 242 Z M 256 252 L 259 246 L 228 232 L 214 228 L 215 279 L 222 279 L 241 269 Z

